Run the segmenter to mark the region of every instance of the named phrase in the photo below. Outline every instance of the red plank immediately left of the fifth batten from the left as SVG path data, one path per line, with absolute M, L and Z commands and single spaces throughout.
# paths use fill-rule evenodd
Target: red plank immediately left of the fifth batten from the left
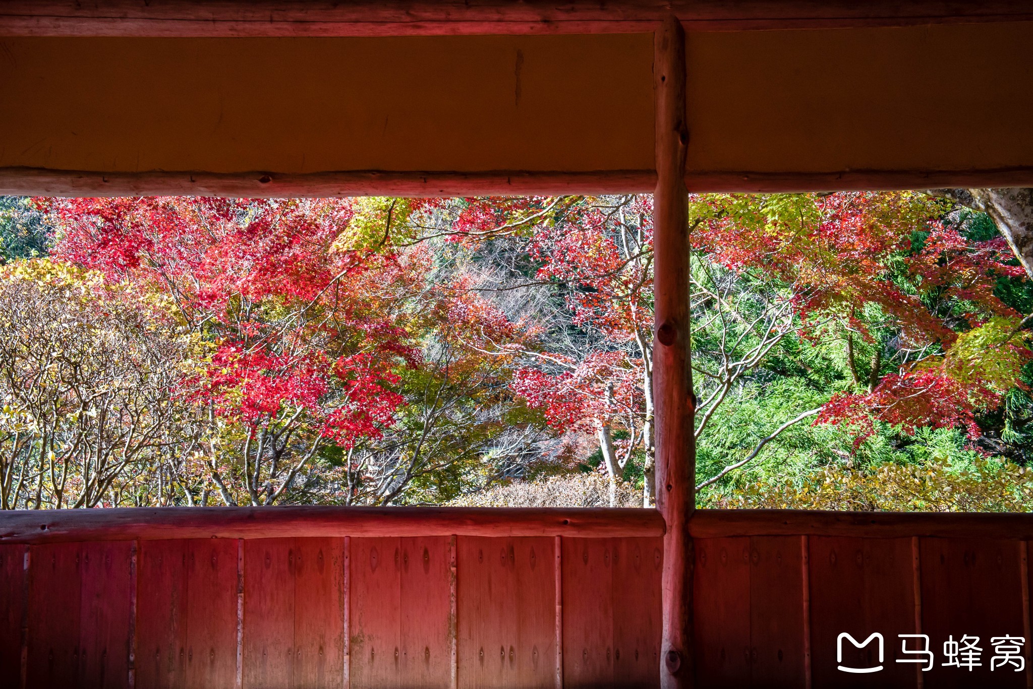
M 401 539 L 400 686 L 451 685 L 448 542 L 446 537 Z

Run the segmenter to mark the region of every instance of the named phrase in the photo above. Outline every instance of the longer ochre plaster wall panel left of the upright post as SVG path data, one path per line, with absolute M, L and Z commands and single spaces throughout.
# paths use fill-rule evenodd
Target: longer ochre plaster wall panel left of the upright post
M 14 38 L 0 167 L 653 166 L 649 34 Z

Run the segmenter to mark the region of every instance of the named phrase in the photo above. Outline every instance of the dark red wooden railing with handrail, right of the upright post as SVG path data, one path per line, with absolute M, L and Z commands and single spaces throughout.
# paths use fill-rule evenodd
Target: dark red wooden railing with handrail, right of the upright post
M 699 687 L 1033 686 L 1033 514 L 699 510 L 690 532 Z M 875 641 L 844 640 L 838 660 L 841 633 L 875 632 L 881 663 Z M 918 657 L 899 634 L 929 636 L 929 671 L 897 662 Z M 966 634 L 979 637 L 981 664 L 944 665 L 943 644 Z M 991 670 L 992 639 L 1005 635 L 1026 641 L 1020 671 Z

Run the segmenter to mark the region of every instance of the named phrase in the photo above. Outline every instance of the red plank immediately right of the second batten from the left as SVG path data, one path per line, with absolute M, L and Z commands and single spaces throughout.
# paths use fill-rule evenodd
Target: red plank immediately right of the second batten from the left
M 136 588 L 136 679 L 181 689 L 186 681 L 187 541 L 145 540 Z

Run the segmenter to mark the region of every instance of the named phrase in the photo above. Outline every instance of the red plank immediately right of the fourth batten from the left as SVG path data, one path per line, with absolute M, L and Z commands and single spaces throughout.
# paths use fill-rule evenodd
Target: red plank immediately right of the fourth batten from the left
M 402 542 L 351 539 L 351 686 L 397 686 L 401 675 Z

